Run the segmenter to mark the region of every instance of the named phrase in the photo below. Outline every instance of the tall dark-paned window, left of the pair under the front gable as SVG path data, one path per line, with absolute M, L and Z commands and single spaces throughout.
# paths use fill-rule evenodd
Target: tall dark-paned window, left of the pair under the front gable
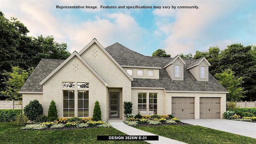
M 63 117 L 75 116 L 75 92 L 63 90 Z

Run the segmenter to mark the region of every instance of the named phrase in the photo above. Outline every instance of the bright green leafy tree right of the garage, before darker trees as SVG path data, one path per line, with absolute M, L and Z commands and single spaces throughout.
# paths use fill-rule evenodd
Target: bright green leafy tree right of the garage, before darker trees
M 227 101 L 240 101 L 242 98 L 246 97 L 247 90 L 241 87 L 243 81 L 242 77 L 236 78 L 234 72 L 230 69 L 224 70 L 222 73 L 215 74 L 220 84 L 228 90 Z

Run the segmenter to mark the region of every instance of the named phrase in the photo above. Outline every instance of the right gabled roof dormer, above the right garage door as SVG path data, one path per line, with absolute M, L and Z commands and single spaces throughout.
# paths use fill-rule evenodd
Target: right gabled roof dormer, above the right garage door
M 191 72 L 191 74 L 196 78 L 196 80 L 208 81 L 210 65 L 211 64 L 208 62 L 208 60 L 206 60 L 205 57 L 202 57 L 188 64 L 187 70 Z

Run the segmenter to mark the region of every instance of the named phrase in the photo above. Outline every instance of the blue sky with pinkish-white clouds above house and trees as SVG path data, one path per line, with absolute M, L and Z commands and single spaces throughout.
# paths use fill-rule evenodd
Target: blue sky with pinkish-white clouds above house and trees
M 174 57 L 256 45 L 256 0 L 0 0 L 0 10 L 18 18 L 28 36 L 54 36 L 71 53 L 94 38 L 104 48 L 118 42 L 146 56 L 159 48 Z

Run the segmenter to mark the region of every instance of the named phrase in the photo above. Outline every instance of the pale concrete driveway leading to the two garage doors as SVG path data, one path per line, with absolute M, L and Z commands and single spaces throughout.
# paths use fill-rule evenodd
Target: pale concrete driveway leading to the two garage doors
M 256 138 L 256 123 L 226 119 L 189 119 L 181 122 Z

